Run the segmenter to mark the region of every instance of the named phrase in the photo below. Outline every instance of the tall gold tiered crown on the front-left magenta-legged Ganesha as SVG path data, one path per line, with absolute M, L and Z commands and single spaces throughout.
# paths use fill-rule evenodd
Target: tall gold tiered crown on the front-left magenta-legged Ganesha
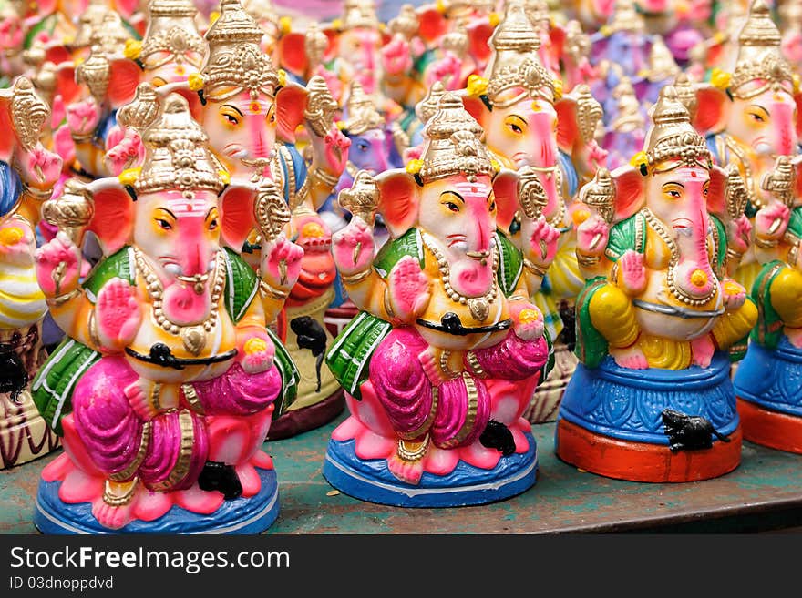
M 183 96 L 167 96 L 161 115 L 142 133 L 142 141 L 145 160 L 134 182 L 139 195 L 178 189 L 191 197 L 196 190 L 220 193 L 225 187 L 209 150 L 209 137 L 190 116 Z

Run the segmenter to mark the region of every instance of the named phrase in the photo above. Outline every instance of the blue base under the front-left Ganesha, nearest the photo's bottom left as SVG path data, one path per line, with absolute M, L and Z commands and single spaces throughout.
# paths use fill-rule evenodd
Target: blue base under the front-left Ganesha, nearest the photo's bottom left
M 257 468 L 262 490 L 250 498 L 225 501 L 217 511 L 204 515 L 178 505 L 152 522 L 134 521 L 119 530 L 101 526 L 89 502 L 67 503 L 58 498 L 60 481 L 39 481 L 34 523 L 42 533 L 261 533 L 279 514 L 275 470 Z

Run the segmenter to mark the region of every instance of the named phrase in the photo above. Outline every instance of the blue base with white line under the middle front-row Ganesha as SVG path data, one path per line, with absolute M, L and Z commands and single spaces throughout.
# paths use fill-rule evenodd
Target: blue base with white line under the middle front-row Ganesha
M 366 502 L 398 507 L 458 507 L 508 499 L 529 490 L 537 480 L 538 448 L 527 433 L 529 450 L 501 457 L 492 470 L 460 461 L 445 476 L 424 473 L 417 485 L 399 481 L 386 459 L 365 461 L 355 454 L 355 441 L 329 441 L 324 478 L 337 490 Z

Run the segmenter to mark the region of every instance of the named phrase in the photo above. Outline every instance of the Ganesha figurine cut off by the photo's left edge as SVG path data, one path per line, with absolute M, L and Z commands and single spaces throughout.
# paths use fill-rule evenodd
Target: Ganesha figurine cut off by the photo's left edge
M 36 283 L 35 229 L 39 204 L 61 169 L 61 160 L 39 141 L 49 113 L 25 76 L 0 91 L 0 469 L 57 446 L 29 389 L 44 358 L 47 309 Z

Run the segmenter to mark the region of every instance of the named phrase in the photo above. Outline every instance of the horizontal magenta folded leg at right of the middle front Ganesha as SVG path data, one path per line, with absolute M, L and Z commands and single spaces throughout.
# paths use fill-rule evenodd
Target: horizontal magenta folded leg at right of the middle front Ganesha
M 523 380 L 540 370 L 548 359 L 545 339 L 523 340 L 510 330 L 498 345 L 468 351 L 466 366 L 481 378 Z

